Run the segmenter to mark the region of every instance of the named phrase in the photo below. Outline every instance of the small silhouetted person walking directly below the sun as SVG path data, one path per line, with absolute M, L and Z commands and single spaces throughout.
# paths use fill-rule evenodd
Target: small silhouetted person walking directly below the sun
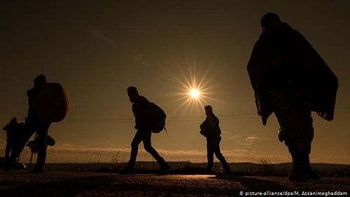
M 213 108 L 210 105 L 204 107 L 205 118 L 204 122 L 200 125 L 200 134 L 204 137 L 207 137 L 207 173 L 211 174 L 214 163 L 214 154 L 216 158 L 221 162 L 225 172 L 227 174 L 231 173 L 230 165 L 226 161 L 223 154 L 220 150 L 220 141 L 221 141 L 221 129 L 219 126 L 219 119 L 213 113 Z

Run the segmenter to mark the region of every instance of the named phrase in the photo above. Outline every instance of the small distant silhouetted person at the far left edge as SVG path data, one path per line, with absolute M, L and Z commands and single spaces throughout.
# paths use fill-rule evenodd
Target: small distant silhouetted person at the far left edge
M 22 137 L 23 123 L 17 123 L 17 118 L 11 118 L 10 123 L 3 127 L 6 131 L 6 149 L 5 159 L 8 159 L 10 152 L 13 150 L 16 140 Z

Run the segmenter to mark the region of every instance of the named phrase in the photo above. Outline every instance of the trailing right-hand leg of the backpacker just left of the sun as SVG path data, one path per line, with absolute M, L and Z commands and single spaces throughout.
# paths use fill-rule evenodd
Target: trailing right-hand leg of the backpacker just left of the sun
M 156 151 L 153 147 L 152 147 L 152 142 L 151 142 L 151 132 L 145 132 L 144 133 L 144 149 L 151 154 L 151 156 L 153 156 L 153 158 L 155 158 L 155 160 L 160 164 L 160 168 L 158 171 L 158 175 L 162 175 L 164 174 L 164 172 L 166 170 L 168 170 L 170 168 L 170 165 L 165 161 L 164 158 L 162 158 L 162 156 L 160 156 L 160 154 L 158 154 L 158 151 Z

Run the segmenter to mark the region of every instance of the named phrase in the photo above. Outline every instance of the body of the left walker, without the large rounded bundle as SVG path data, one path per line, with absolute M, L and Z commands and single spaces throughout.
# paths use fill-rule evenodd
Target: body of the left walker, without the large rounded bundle
M 43 173 L 45 171 L 45 160 L 46 160 L 46 138 L 48 135 L 48 128 L 50 122 L 40 121 L 33 107 L 34 97 L 41 91 L 42 87 L 46 83 L 46 77 L 43 74 L 36 76 L 34 79 L 34 88 L 27 91 L 28 96 L 28 114 L 23 128 L 22 139 L 18 140 L 15 145 L 15 149 L 11 153 L 10 160 L 6 162 L 6 169 L 10 171 L 12 165 L 20 153 L 22 152 L 25 144 L 28 142 L 31 135 L 37 133 L 36 141 L 38 142 L 38 157 L 36 159 L 36 165 L 31 170 L 34 173 Z

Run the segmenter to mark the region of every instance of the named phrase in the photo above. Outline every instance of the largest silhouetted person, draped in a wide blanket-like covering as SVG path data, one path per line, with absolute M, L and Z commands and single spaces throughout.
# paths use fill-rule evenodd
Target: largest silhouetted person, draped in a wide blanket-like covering
M 311 111 L 333 119 L 337 77 L 307 39 L 267 13 L 261 19 L 262 34 L 248 62 L 258 115 L 265 125 L 274 113 L 279 140 L 293 158 L 290 181 L 319 179 L 311 169 L 309 154 L 314 137 Z

